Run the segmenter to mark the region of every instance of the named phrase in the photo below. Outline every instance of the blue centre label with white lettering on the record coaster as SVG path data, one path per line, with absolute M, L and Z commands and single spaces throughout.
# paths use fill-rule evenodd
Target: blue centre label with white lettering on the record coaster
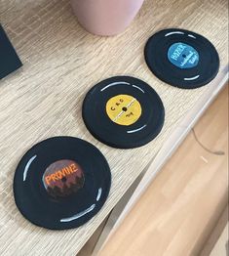
M 192 46 L 179 42 L 170 47 L 168 59 L 175 66 L 186 69 L 195 67 L 199 63 L 199 54 Z

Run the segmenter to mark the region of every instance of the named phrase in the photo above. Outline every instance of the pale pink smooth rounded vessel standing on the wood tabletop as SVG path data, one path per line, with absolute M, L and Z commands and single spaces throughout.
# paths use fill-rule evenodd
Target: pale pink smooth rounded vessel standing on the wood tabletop
M 115 35 L 134 20 L 144 0 L 71 0 L 78 21 L 90 32 Z

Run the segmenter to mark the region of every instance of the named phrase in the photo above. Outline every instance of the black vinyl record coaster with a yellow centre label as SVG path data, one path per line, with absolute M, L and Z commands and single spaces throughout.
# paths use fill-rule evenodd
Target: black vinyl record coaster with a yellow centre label
M 83 119 L 100 142 L 133 149 L 152 141 L 162 130 L 165 109 L 147 83 L 129 76 L 99 82 L 87 94 Z

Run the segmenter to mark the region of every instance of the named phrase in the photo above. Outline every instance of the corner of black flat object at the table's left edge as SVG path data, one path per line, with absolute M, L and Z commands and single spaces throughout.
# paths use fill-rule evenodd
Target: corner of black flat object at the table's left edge
M 0 79 L 12 73 L 21 65 L 19 56 L 0 24 Z

